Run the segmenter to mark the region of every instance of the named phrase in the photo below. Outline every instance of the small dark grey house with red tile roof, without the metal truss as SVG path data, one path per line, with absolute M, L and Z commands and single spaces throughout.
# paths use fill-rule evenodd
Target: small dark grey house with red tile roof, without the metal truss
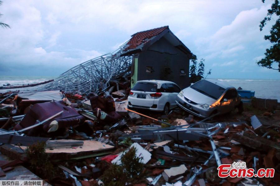
M 133 34 L 122 55 L 134 54 L 131 87 L 140 80 L 169 80 L 181 88 L 189 86 L 191 51 L 169 26 Z

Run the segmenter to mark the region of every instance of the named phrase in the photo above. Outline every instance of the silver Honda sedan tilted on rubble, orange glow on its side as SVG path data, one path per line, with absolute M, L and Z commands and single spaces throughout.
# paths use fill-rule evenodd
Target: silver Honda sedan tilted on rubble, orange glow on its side
M 203 79 L 183 89 L 177 95 L 176 103 L 184 110 L 203 118 L 231 112 L 235 108 L 239 112 L 243 111 L 236 88 L 216 79 Z

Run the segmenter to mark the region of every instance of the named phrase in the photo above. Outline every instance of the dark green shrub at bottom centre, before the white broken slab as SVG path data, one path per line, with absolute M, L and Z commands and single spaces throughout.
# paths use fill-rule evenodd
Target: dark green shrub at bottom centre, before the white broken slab
M 144 165 L 141 163 L 142 158 L 136 156 L 136 149 L 130 148 L 121 158 L 121 164 L 113 164 L 100 177 L 105 185 L 126 185 L 145 183 L 145 174 L 143 173 Z

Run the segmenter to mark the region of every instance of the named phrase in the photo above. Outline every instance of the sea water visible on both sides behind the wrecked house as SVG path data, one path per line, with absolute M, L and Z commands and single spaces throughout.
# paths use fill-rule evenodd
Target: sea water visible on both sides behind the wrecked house
M 55 76 L 0 76 L 0 86 L 8 83 L 13 86 L 40 83 L 55 78 Z M 257 98 L 278 99 L 280 102 L 280 79 L 217 79 L 226 81 L 235 88 L 253 90 Z

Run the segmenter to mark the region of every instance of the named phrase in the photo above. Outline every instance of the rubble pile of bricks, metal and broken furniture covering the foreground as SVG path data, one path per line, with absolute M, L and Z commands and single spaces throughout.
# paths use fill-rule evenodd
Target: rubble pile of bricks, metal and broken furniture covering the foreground
M 52 185 L 280 182 L 279 107 L 200 122 L 180 109 L 168 115 L 130 111 L 129 82 L 115 84 L 99 95 L 1 93 L 0 151 L 11 160 L 0 162 L 0 178 L 20 164 Z M 218 176 L 220 165 L 238 163 L 255 171 L 273 168 L 274 177 Z

